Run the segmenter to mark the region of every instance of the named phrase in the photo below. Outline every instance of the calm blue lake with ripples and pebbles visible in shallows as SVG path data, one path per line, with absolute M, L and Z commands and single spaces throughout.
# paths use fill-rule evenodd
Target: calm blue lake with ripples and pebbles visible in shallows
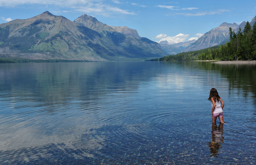
M 255 124 L 253 64 L 0 64 L 0 164 L 256 164 Z

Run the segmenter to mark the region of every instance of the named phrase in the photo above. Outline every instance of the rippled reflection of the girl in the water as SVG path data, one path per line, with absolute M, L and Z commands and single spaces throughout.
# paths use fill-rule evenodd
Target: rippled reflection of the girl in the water
M 210 156 L 216 156 L 218 155 L 218 151 L 221 147 L 221 143 L 223 143 L 224 137 L 223 134 L 223 123 L 220 123 L 217 127 L 216 123 L 212 123 L 212 131 L 211 131 L 211 142 L 209 143 L 210 148 Z

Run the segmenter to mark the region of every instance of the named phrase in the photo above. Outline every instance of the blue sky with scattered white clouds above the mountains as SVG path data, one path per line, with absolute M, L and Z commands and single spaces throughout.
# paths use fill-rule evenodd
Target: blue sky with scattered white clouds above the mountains
M 45 11 L 71 21 L 85 13 L 111 26 L 136 29 L 152 41 L 174 44 L 197 39 L 222 22 L 250 22 L 256 1 L 0 0 L 0 23 Z

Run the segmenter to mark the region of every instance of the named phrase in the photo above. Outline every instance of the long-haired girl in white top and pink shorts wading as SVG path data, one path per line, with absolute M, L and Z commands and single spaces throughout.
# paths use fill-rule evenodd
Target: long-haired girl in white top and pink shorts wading
M 219 120 L 221 123 L 224 123 L 223 120 L 223 107 L 224 107 L 224 102 L 220 98 L 217 90 L 215 88 L 211 88 L 210 91 L 210 96 L 208 98 L 209 101 L 211 101 L 211 114 L 212 114 L 212 123 L 216 123 L 217 117 L 219 117 Z M 220 105 L 221 103 L 221 105 Z

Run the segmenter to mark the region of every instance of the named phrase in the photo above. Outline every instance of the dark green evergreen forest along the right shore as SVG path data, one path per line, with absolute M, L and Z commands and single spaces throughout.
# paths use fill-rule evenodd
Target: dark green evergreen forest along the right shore
M 191 60 L 256 60 L 256 22 L 251 27 L 247 21 L 244 30 L 234 32 L 229 28 L 230 41 L 224 45 L 206 49 L 164 56 L 151 61 L 191 61 Z

